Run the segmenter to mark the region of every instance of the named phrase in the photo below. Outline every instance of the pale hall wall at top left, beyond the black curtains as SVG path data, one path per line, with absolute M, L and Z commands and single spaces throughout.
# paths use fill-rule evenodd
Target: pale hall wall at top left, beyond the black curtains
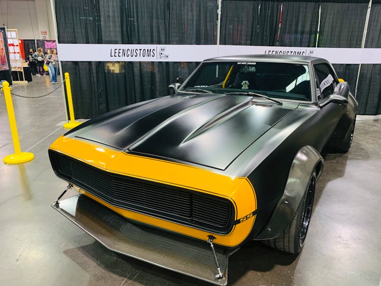
M 0 0 L 0 26 L 17 29 L 19 39 L 43 39 L 41 30 L 47 31 L 46 39 L 54 39 L 51 19 L 49 0 Z

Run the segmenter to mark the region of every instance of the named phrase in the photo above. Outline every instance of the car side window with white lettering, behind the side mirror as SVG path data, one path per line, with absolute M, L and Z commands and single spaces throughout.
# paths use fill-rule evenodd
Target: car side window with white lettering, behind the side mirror
M 319 80 L 321 99 L 325 99 L 332 94 L 336 88 L 338 81 L 335 73 L 327 63 L 317 63 L 316 65 L 313 65 L 313 68 L 315 69 L 317 79 Z

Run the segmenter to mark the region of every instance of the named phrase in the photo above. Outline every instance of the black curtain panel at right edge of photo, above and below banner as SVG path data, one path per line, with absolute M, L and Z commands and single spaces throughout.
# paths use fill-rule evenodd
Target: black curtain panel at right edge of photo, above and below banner
M 381 1 L 372 4 L 365 48 L 381 48 Z M 381 65 L 361 65 L 357 100 L 360 114 L 381 114 Z

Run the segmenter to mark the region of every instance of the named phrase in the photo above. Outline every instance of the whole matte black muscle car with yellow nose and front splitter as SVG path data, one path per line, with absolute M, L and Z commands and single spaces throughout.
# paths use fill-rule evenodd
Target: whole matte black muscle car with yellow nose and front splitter
M 106 247 L 216 284 L 261 240 L 303 247 L 323 149 L 347 152 L 357 102 L 327 60 L 205 60 L 175 94 L 93 118 L 49 149 L 79 195 L 53 207 Z

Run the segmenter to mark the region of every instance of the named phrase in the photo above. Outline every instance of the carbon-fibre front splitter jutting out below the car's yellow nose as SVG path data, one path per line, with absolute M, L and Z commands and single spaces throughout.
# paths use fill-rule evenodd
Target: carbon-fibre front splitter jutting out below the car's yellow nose
M 228 283 L 231 251 L 215 248 L 223 279 L 207 243 L 134 224 L 84 195 L 61 200 L 52 207 L 107 248 L 153 265 L 218 285 Z

